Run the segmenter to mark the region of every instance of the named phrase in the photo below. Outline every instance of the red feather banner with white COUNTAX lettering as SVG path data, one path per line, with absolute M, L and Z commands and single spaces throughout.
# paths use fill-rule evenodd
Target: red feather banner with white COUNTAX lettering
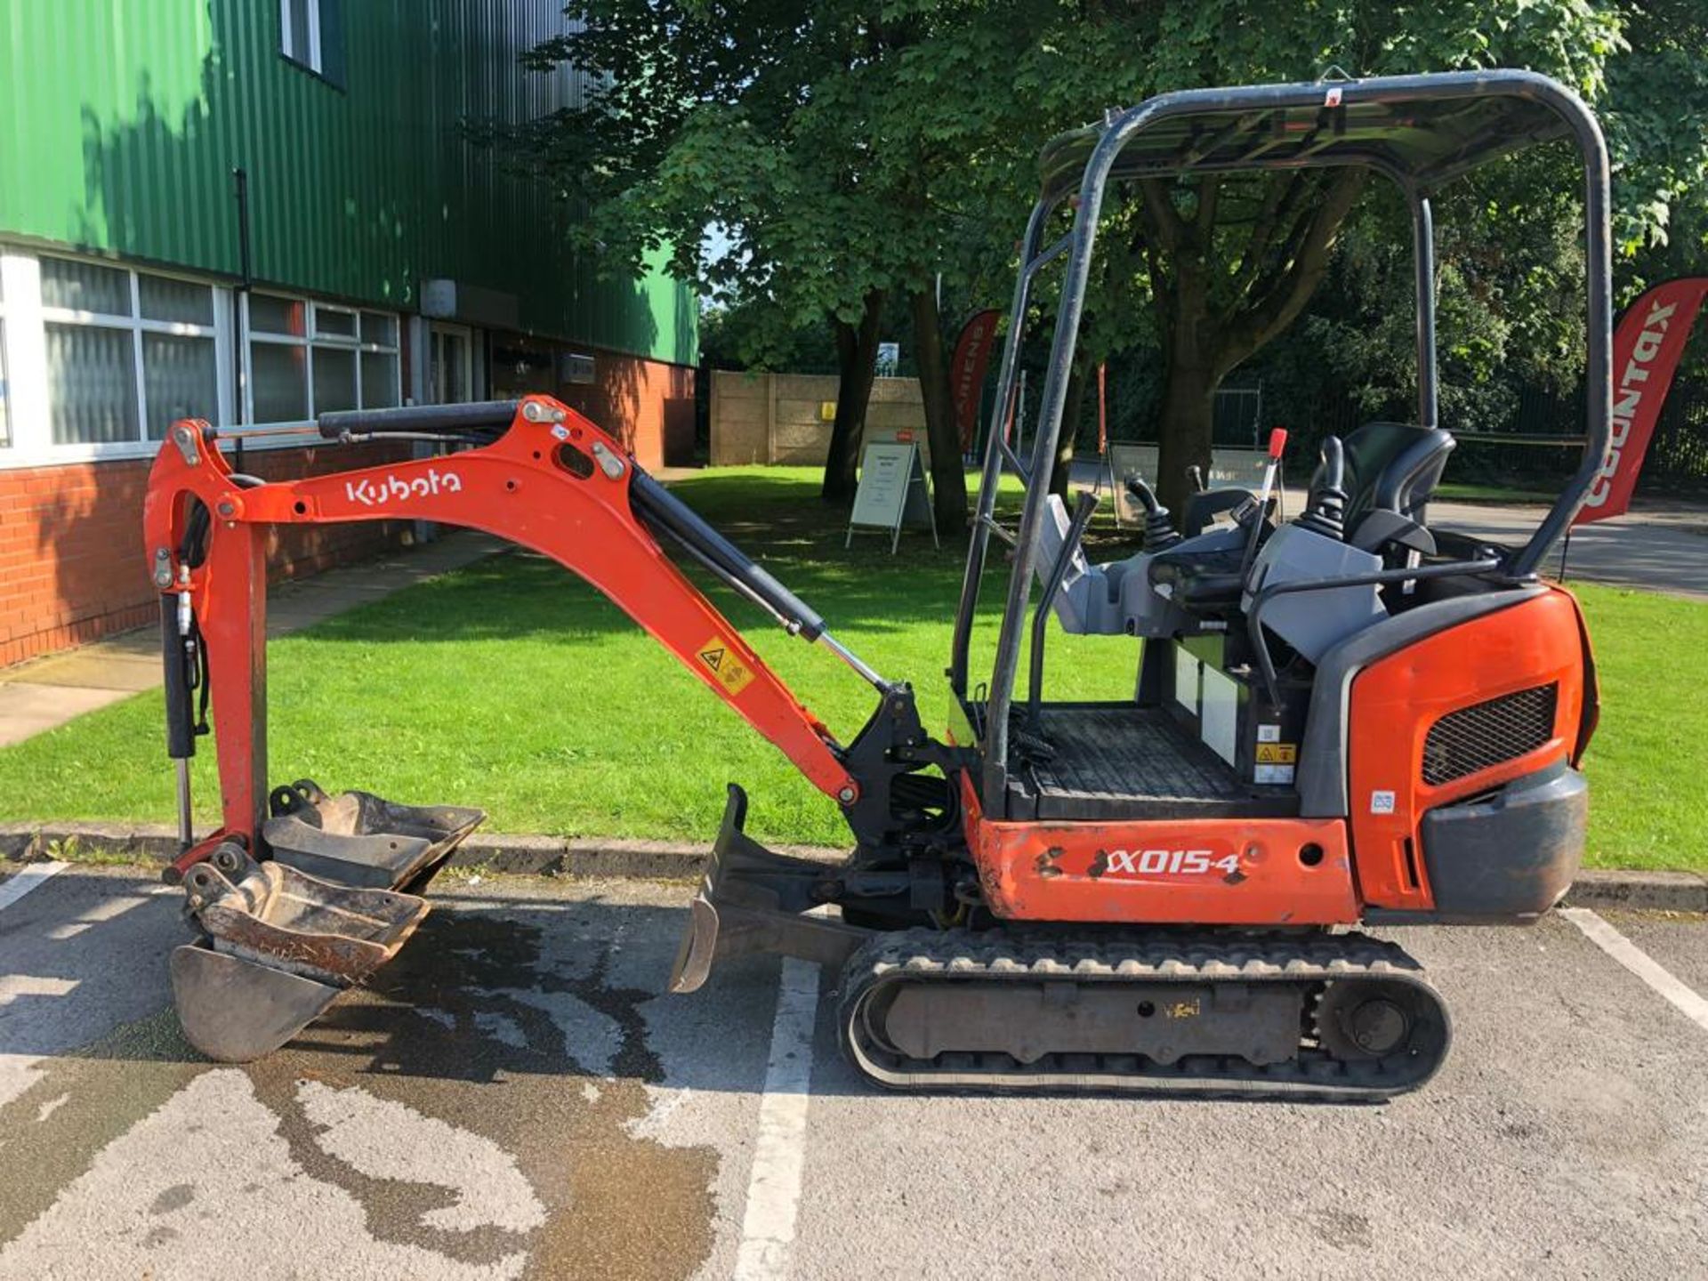
M 1626 307 L 1612 335 L 1612 447 L 1573 524 L 1623 516 L 1655 434 L 1691 325 L 1708 297 L 1708 277 L 1655 285 Z

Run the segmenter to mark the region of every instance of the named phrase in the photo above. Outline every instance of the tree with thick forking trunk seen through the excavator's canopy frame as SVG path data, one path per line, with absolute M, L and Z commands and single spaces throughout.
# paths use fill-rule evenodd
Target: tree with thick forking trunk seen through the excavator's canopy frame
M 1074 9 L 1038 32 L 1021 72 L 1038 85 L 1056 125 L 1088 114 L 1090 104 L 1136 102 L 1167 89 L 1310 80 L 1331 65 L 1354 77 L 1518 65 L 1595 99 L 1621 48 L 1617 12 L 1582 0 L 1428 7 L 1163 0 Z M 1105 227 L 1114 287 L 1088 299 L 1086 316 L 1097 311 L 1107 325 L 1102 313 L 1120 294 L 1151 301 L 1167 371 L 1156 424 L 1167 504 L 1182 500 L 1185 468 L 1209 461 L 1216 388 L 1301 314 L 1363 188 L 1349 171 L 1187 176 L 1143 183 L 1114 202 Z M 1129 272 L 1134 256 L 1138 270 Z M 1119 333 L 1107 345 L 1124 347 Z

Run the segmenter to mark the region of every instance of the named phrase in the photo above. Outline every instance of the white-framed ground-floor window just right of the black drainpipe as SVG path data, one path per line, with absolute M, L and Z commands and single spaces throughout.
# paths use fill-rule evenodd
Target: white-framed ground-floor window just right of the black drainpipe
M 396 316 L 277 294 L 248 307 L 253 422 L 401 403 Z

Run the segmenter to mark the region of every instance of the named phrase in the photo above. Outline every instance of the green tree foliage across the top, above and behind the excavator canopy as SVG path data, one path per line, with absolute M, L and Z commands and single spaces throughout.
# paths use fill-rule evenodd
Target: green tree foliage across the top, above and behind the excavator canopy
M 582 108 L 509 142 L 586 210 L 613 272 L 670 248 L 724 307 L 743 364 L 796 359 L 827 316 L 852 323 L 943 273 L 1001 304 L 1054 133 L 1168 89 L 1529 67 L 1602 113 L 1614 150 L 1621 289 L 1708 263 L 1708 5 L 1701 0 L 589 0 L 533 63 L 593 79 Z M 1694 104 L 1694 109 L 1691 109 Z M 1443 400 L 1498 417 L 1518 383 L 1568 384 L 1582 359 L 1580 178 L 1565 149 L 1443 193 Z M 1310 307 L 1324 371 L 1365 403 L 1409 395 L 1409 231 L 1370 184 L 1344 229 L 1329 179 L 1192 179 L 1110 202 L 1081 369 L 1132 350 L 1216 377 Z M 1281 208 L 1284 219 L 1269 217 Z M 1179 222 L 1175 222 L 1179 219 Z M 1342 246 L 1301 263 L 1320 219 Z M 1199 225 L 1199 224 L 1204 225 Z M 716 225 L 729 251 L 707 254 Z M 1160 244 L 1170 225 L 1184 231 Z M 1269 232 L 1259 236 L 1259 229 Z M 1290 231 L 1291 227 L 1291 231 Z M 1182 272 L 1182 263 L 1199 263 Z M 1332 297 L 1312 302 L 1319 278 Z M 1054 311 L 1040 282 L 1033 319 Z M 1146 301 L 1155 306 L 1143 306 Z M 892 306 L 890 316 L 905 307 Z M 1184 319 L 1182 319 L 1184 318 Z M 1196 318 L 1196 319 L 1194 319 Z M 886 335 L 897 328 L 886 321 Z M 1305 333 L 1307 326 L 1295 326 Z M 806 342 L 803 343 L 803 335 Z M 823 340 L 828 355 L 832 345 Z M 1155 396 L 1161 405 L 1161 391 Z

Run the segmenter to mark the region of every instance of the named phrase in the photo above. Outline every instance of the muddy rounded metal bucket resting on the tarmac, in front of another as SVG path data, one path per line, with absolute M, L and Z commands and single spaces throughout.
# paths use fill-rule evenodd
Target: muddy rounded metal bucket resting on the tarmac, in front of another
M 190 1044 L 210 1059 L 268 1054 L 391 960 L 427 900 L 333 885 L 220 845 L 184 876 L 202 943 L 173 953 L 173 997 Z

